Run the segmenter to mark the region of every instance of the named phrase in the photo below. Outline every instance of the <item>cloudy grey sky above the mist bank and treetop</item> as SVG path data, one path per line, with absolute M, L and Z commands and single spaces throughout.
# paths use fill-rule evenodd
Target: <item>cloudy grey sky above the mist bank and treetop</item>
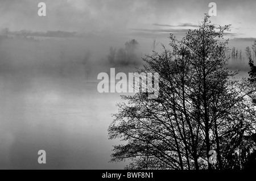
M 0 27 L 18 31 L 76 31 L 103 35 L 166 37 L 195 28 L 212 1 L 171 0 L 44 0 L 47 16 L 39 17 L 38 3 L 1 0 Z M 254 0 L 214 1 L 216 24 L 232 24 L 232 37 L 256 37 Z

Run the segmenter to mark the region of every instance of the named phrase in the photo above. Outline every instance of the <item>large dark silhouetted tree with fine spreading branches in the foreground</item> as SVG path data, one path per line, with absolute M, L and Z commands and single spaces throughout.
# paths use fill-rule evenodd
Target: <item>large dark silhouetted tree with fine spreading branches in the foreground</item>
M 159 73 L 159 96 L 122 96 L 126 102 L 118 104 L 108 131 L 110 139 L 126 144 L 114 146 L 112 161 L 131 159 L 126 169 L 181 170 L 230 169 L 245 162 L 241 153 L 253 149 L 245 137 L 253 134 L 256 113 L 247 96 L 255 90 L 230 80 L 236 73 L 226 68 L 224 31 L 229 26 L 214 27 L 205 15 L 183 39 L 171 34 L 171 49 L 163 46 L 162 53 L 143 58 L 138 73 Z M 214 166 L 210 150 L 217 151 Z

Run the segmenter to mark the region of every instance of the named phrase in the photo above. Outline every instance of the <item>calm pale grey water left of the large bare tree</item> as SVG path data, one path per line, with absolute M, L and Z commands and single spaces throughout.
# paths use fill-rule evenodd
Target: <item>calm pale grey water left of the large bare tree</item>
M 127 163 L 109 163 L 120 142 L 107 131 L 120 100 L 82 78 L 2 76 L 0 169 L 123 169 Z

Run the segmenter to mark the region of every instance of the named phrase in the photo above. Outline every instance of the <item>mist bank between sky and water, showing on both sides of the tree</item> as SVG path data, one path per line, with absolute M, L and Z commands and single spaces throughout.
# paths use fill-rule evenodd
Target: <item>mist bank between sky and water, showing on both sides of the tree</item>
M 29 81 L 35 77 L 48 77 L 52 81 L 66 79 L 98 82 L 101 72 L 134 73 L 144 64 L 142 57 L 152 54 L 152 50 L 162 52 L 158 40 L 139 41 L 135 39 L 114 39 L 113 37 L 37 37 L 0 36 L 0 75 L 15 82 Z M 166 38 L 166 40 L 168 40 Z M 150 42 L 151 44 L 145 44 Z M 236 44 L 235 44 L 236 43 Z M 166 43 L 167 44 L 167 43 Z M 164 45 L 166 45 L 164 44 Z M 240 44 L 230 40 L 227 53 L 230 70 L 249 71 L 243 47 L 253 42 Z M 232 46 L 242 51 L 240 57 L 231 57 Z M 168 48 L 168 44 L 166 45 Z M 153 48 L 154 47 L 154 48 Z

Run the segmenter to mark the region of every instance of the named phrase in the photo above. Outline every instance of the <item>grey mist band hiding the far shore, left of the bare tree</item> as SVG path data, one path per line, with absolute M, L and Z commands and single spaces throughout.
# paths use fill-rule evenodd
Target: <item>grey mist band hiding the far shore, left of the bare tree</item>
M 0 74 L 18 77 L 75 77 L 96 81 L 98 73 L 112 67 L 123 72 L 135 71 L 142 65 L 142 56 L 138 46 L 125 43 L 118 47 L 88 39 L 0 37 Z

